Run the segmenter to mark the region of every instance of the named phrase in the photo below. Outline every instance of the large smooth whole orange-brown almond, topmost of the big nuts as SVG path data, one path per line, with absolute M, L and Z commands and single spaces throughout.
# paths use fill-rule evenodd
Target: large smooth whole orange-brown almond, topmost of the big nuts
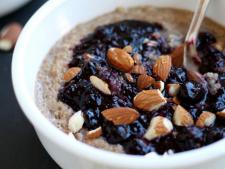
M 133 58 L 123 49 L 110 48 L 107 52 L 110 65 L 122 72 L 130 72 L 134 66 Z

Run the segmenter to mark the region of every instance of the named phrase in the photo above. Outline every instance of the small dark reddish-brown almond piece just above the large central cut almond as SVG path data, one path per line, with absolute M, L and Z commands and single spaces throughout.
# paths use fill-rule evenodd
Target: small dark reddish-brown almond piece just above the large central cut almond
M 137 87 L 139 89 L 145 89 L 149 87 L 151 84 L 153 84 L 154 81 L 155 79 L 152 78 L 151 76 L 148 76 L 146 74 L 139 75 L 137 80 Z

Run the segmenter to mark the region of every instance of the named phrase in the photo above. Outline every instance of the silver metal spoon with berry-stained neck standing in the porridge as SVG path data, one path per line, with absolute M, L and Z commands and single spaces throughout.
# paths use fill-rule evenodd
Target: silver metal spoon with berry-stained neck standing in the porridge
M 196 41 L 210 0 L 198 0 L 191 25 L 185 39 L 183 66 L 190 71 L 198 71 L 199 57 Z

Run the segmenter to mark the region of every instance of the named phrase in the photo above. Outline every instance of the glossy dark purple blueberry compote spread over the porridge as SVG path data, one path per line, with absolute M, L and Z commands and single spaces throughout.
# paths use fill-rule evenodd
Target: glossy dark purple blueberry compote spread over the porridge
M 209 92 L 208 81 L 196 82 L 189 79 L 188 72 L 182 67 L 171 67 L 164 85 L 179 84 L 180 90 L 176 98 L 180 103 L 167 101 L 159 109 L 153 111 L 138 110 L 133 105 L 133 98 L 141 90 L 136 82 L 138 74 L 131 72 L 133 81 L 125 77 L 125 73 L 113 68 L 107 61 L 110 48 L 131 46 L 131 57 L 139 54 L 140 62 L 146 73 L 156 80 L 153 74 L 155 60 L 171 54 L 174 48 L 169 46 L 169 33 L 159 23 L 148 23 L 136 20 L 125 20 L 98 27 L 92 34 L 81 40 L 73 49 L 73 58 L 68 67 L 80 67 L 81 71 L 59 90 L 58 99 L 75 112 L 82 110 L 85 119 L 84 128 L 93 130 L 102 127 L 102 137 L 110 144 L 121 144 L 129 154 L 145 155 L 152 151 L 164 154 L 168 150 L 174 153 L 199 148 L 224 137 L 225 120 L 216 117 L 215 123 L 207 127 L 173 125 L 173 130 L 153 140 L 144 135 L 150 121 L 156 116 L 163 116 L 173 121 L 174 106 L 180 104 L 193 120 L 196 121 L 203 111 L 214 114 L 225 109 L 225 56 L 216 49 L 216 38 L 208 32 L 202 32 L 198 38 L 198 52 L 201 58 L 200 73 L 213 72 L 221 85 L 216 93 Z M 182 42 L 180 42 L 182 43 Z M 95 88 L 89 78 L 97 76 L 109 85 L 111 95 L 106 95 Z M 149 86 L 147 89 L 153 89 Z M 162 95 L 172 100 L 168 91 L 163 89 Z M 131 107 L 139 112 L 139 117 L 131 124 L 114 125 L 103 117 L 103 110 L 113 107 Z

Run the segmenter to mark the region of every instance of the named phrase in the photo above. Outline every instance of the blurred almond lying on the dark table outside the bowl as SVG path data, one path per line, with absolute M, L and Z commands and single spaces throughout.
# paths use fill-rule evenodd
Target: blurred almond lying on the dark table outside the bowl
M 19 23 L 14 22 L 6 25 L 0 32 L 0 50 L 11 50 L 21 31 L 22 26 Z

